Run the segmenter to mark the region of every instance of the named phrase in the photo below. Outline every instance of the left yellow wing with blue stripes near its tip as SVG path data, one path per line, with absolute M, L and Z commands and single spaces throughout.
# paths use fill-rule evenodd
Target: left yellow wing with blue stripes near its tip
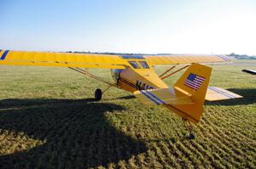
M 127 62 L 119 55 L 0 50 L 0 65 L 125 69 Z

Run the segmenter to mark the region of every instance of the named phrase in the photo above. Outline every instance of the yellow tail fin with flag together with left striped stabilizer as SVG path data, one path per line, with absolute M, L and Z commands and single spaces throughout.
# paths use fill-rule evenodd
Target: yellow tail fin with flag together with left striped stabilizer
M 201 119 L 212 68 L 193 64 L 183 73 L 174 87 L 140 90 L 134 95 L 144 104 L 162 104 L 183 119 Z

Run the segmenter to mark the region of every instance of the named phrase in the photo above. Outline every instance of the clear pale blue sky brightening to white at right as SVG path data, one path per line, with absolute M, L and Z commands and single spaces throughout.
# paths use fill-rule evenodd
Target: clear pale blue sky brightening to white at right
M 256 55 L 256 0 L 0 0 L 0 48 Z

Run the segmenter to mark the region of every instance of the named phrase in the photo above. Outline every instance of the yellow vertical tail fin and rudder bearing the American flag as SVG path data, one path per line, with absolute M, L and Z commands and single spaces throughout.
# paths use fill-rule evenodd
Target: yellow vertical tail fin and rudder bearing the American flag
M 188 121 L 200 121 L 211 72 L 212 68 L 205 65 L 191 65 L 174 84 L 174 88 L 192 99 L 193 104 L 166 104 L 166 107 Z

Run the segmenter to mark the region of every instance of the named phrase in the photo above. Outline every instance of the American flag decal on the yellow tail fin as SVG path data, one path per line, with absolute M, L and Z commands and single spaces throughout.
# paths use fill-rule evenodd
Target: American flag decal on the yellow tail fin
M 205 81 L 205 79 L 205 77 L 190 73 L 188 78 L 184 82 L 184 85 L 195 90 L 198 90 L 201 87 L 201 84 Z

